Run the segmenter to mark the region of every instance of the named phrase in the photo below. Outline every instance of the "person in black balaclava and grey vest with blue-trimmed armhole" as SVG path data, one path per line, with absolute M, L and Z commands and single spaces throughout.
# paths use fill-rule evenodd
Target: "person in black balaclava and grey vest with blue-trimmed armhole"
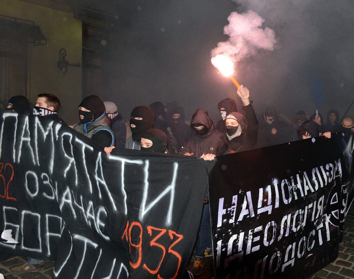
M 104 103 L 98 96 L 84 98 L 79 105 L 80 123 L 73 127 L 102 148 L 113 146 L 115 141 L 111 120 L 105 110 Z

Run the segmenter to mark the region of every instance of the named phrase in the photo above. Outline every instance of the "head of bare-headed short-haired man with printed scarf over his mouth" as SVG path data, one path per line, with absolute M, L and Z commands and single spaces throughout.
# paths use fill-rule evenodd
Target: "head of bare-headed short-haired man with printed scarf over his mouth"
M 49 93 L 43 93 L 38 95 L 36 104 L 33 107 L 33 114 L 47 116 L 66 125 L 64 120 L 58 116 L 59 108 L 60 101 L 57 96 Z

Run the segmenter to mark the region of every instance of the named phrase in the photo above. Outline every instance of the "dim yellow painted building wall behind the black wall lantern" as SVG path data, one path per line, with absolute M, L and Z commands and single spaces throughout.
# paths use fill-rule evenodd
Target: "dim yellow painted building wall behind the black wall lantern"
M 61 103 L 59 116 L 71 125 L 79 121 L 81 67 L 68 67 L 63 75 L 57 68 L 59 50 L 67 51 L 69 63 L 82 64 L 81 21 L 73 13 L 22 2 L 1 0 L 0 14 L 34 21 L 48 39 L 46 46 L 29 44 L 28 98 L 35 103 L 40 93 L 52 93 Z

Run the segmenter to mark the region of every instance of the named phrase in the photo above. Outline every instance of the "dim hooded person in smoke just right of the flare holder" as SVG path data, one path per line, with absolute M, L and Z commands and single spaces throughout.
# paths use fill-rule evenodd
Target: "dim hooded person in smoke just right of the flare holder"
M 257 147 L 272 146 L 292 141 L 292 131 L 284 121 L 279 121 L 275 107 L 264 109 L 263 124 L 259 126 Z

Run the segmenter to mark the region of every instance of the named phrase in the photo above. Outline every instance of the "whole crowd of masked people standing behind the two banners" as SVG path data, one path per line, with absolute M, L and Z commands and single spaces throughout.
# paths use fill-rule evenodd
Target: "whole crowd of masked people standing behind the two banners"
M 349 137 L 354 132 L 354 120 L 346 116 L 340 121 L 337 110 L 327 113 L 326 122 L 320 113 L 310 117 L 300 110 L 292 123 L 281 121 L 274 107 L 265 108 L 257 120 L 249 100 L 250 92 L 240 86 L 237 95 L 241 109 L 234 99 L 226 98 L 218 103 L 221 119 L 216 126 L 205 109 L 193 114 L 190 125 L 185 122 L 184 110 L 176 103 L 166 105 L 154 102 L 150 106 L 138 106 L 125 123 L 115 103 L 103 102 L 95 95 L 88 96 L 78 106 L 79 123 L 74 130 L 91 138 L 109 155 L 114 148 L 136 149 L 149 152 L 195 156 L 213 160 L 217 155 L 235 153 L 258 147 L 272 146 L 317 136 L 331 137 L 331 133 L 343 131 Z M 33 108 L 24 96 L 8 100 L 7 109 L 18 113 L 48 117 L 66 125 L 59 118 L 59 99 L 52 94 L 40 94 Z M 239 112 L 240 110 L 240 112 Z M 192 273 L 199 275 L 204 257 L 212 256 L 210 211 L 206 200 L 195 244 Z M 28 262 L 12 268 L 22 274 L 43 269 L 43 261 L 28 258 Z

